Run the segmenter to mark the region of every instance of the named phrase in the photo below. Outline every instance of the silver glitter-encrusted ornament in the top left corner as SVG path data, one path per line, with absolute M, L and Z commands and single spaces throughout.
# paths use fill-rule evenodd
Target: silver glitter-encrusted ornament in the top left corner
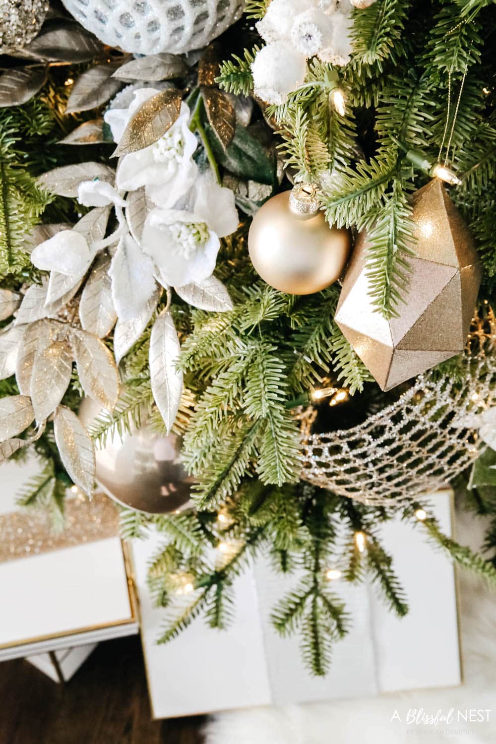
M 0 54 L 20 49 L 34 39 L 48 11 L 47 0 L 2 0 Z

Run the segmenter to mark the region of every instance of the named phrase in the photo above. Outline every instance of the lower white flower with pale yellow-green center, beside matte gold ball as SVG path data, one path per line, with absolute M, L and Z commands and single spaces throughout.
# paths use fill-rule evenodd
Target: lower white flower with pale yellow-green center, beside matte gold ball
M 141 247 L 155 262 L 157 279 L 164 286 L 202 282 L 215 268 L 219 238 L 237 225 L 231 189 L 203 176 L 174 208 L 152 209 Z

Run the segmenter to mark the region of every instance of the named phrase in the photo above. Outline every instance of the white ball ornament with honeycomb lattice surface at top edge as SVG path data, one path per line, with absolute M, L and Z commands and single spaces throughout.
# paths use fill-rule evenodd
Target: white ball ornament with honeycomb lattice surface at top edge
M 199 49 L 231 26 L 244 0 L 62 0 L 100 41 L 133 54 Z

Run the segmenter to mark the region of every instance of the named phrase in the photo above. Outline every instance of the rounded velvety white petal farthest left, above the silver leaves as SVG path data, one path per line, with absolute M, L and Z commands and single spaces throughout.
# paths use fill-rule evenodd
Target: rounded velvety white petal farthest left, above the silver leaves
M 93 257 L 84 235 L 75 230 L 61 230 L 33 248 L 31 263 L 43 271 L 74 275 L 85 272 Z

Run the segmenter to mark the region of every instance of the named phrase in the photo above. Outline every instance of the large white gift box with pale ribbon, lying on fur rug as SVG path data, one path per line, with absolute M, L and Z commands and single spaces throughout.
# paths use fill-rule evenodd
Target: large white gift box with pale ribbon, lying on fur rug
M 442 529 L 451 533 L 449 490 L 432 495 Z M 295 637 L 280 638 L 269 615 L 297 575 L 281 577 L 257 560 L 236 580 L 235 620 L 226 631 L 201 619 L 158 646 L 164 609 L 152 606 L 146 568 L 161 536 L 135 540 L 135 579 L 141 633 L 155 718 L 210 713 L 254 705 L 343 699 L 393 690 L 460 684 L 460 651 L 454 569 L 439 551 L 399 519 L 381 528 L 384 547 L 408 595 L 410 612 L 399 619 L 370 584 L 336 581 L 333 589 L 352 615 L 352 629 L 334 646 L 325 678 L 309 675 Z

